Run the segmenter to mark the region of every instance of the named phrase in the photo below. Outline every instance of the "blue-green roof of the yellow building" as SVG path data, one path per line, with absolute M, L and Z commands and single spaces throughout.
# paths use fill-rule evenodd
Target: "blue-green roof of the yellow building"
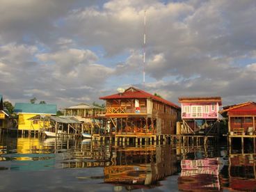
M 24 104 L 16 103 L 14 113 L 42 113 L 56 115 L 56 104 Z

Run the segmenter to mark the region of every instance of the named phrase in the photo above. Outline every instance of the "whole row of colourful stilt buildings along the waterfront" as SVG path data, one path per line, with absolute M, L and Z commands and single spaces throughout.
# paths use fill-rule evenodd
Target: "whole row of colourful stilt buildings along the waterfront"
M 17 136 L 81 138 L 114 145 L 157 143 L 216 143 L 227 137 L 253 141 L 255 102 L 223 106 L 221 97 L 179 97 L 179 104 L 136 87 L 102 96 L 104 107 L 77 104 L 56 115 L 56 104 L 16 103 L 11 115 L 0 95 L 0 128 Z M 220 107 L 222 109 L 220 110 Z

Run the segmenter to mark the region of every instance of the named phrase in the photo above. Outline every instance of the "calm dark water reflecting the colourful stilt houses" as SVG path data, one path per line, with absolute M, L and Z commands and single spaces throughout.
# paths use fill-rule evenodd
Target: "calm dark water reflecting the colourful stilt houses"
M 1 191 L 256 191 L 256 155 L 219 146 L 0 141 Z

